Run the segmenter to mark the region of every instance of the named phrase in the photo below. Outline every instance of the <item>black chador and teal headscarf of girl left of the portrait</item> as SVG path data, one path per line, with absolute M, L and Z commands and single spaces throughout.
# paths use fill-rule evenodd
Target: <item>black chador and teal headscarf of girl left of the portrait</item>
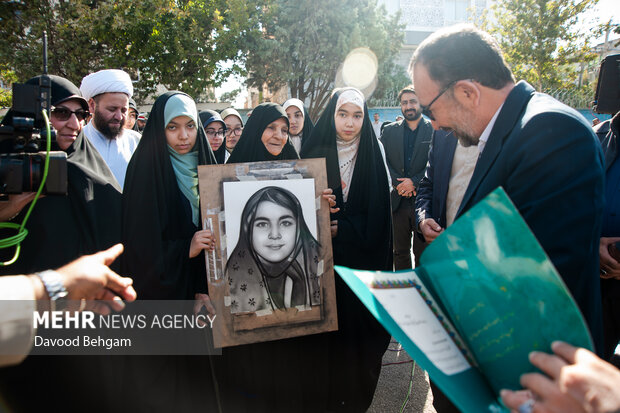
M 191 303 L 196 293 L 207 292 L 206 271 L 203 254 L 189 258 L 191 239 L 200 229 L 198 194 L 188 198 L 181 190 L 166 140 L 166 109 L 178 108 L 175 102 L 181 109 L 171 119 L 191 112 L 197 131 L 190 150 L 197 162 L 186 173 L 215 163 L 191 98 L 181 92 L 160 96 L 127 168 L 122 269 L 133 277 L 139 299 Z M 186 108 L 191 110 L 184 112 Z M 119 410 L 217 411 L 208 356 L 125 357 L 117 381 Z

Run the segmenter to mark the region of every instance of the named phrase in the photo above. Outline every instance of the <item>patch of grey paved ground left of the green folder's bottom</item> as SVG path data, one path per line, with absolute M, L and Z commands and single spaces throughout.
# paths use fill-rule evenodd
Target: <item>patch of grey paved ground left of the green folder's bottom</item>
M 417 365 L 411 383 L 411 369 L 413 360 L 401 350 L 400 344 L 392 339 L 388 351 L 383 356 L 383 367 L 379 384 L 375 391 L 369 413 L 398 413 L 407 400 L 407 393 L 411 385 L 411 395 L 405 406 L 408 413 L 435 413 L 433 396 L 428 384 L 426 372 Z

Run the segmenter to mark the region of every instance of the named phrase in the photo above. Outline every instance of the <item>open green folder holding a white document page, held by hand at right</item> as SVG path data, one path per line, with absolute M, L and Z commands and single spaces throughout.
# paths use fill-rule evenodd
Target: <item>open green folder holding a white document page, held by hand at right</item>
M 584 319 L 502 188 L 399 272 L 335 267 L 370 312 L 463 412 L 507 412 L 501 389 L 535 371 L 533 350 L 592 350 Z

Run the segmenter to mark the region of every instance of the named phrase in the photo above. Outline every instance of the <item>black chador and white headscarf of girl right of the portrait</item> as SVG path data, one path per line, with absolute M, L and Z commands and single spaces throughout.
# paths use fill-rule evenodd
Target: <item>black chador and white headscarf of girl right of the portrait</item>
M 340 170 L 348 165 L 339 160 L 344 154 L 339 154 L 334 120 L 343 102 L 356 104 L 364 113 L 359 146 L 352 158 L 354 169 L 352 174 L 349 170 L 349 182 L 345 182 L 346 201 Z M 391 270 L 388 177 L 368 109 L 357 89 L 335 91 L 304 143 L 301 157 L 326 158 L 328 184 L 340 208 L 332 214 L 332 220 L 338 221 L 338 234 L 332 239 L 334 263 L 365 270 Z M 336 299 L 338 331 L 329 333 L 330 410 L 366 411 L 372 402 L 390 335 L 337 275 Z

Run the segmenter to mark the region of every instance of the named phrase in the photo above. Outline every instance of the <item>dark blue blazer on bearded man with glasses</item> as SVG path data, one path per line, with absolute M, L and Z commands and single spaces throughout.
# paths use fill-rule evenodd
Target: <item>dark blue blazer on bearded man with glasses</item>
M 504 102 L 457 212 L 504 187 L 575 298 L 599 352 L 604 170 L 583 116 L 521 81 Z

